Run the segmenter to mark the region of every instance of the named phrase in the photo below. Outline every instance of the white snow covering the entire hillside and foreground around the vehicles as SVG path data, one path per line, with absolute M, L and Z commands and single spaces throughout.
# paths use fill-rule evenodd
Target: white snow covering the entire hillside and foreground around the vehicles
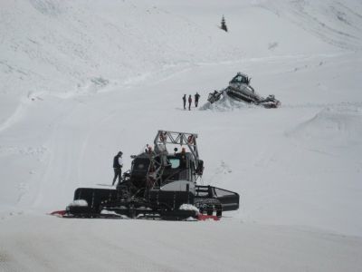
M 360 271 L 359 0 L 3 0 L 0 23 L 0 271 Z M 207 104 L 237 72 L 281 108 Z M 157 130 L 197 133 L 200 183 L 240 209 L 47 215 Z

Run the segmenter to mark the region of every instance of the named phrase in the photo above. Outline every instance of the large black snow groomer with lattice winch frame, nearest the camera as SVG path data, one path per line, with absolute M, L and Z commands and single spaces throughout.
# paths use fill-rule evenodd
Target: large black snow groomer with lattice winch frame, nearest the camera
M 195 133 L 158 131 L 155 149 L 149 147 L 131 157 L 131 169 L 123 174 L 116 189 L 76 189 L 74 201 L 63 216 L 218 219 L 223 211 L 238 209 L 237 193 L 196 184 L 204 171 L 196 140 Z M 169 145 L 182 149 L 168 152 Z

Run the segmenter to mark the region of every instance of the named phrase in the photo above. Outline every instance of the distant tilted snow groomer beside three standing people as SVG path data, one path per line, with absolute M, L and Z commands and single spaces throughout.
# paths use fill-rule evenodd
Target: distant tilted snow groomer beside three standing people
M 244 73 L 237 73 L 222 91 L 210 92 L 207 101 L 214 103 L 220 100 L 221 96 L 226 93 L 228 96 L 237 101 L 243 101 L 253 103 L 256 105 L 262 105 L 265 108 L 278 108 L 281 102 L 276 100 L 274 95 L 269 95 L 267 98 L 263 98 L 250 85 L 251 78 Z

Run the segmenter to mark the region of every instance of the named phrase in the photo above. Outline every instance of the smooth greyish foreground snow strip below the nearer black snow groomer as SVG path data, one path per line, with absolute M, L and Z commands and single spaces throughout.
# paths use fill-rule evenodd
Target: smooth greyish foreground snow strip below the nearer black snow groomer
M 6 236 L 0 233 L 5 271 L 358 271 L 362 265 L 360 238 L 228 219 L 104 222 L 24 215 L 3 225 L 11 226 Z

